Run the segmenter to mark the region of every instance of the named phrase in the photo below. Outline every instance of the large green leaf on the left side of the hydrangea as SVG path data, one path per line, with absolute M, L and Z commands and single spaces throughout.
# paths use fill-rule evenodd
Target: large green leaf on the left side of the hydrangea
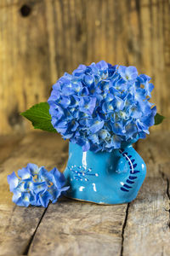
M 20 113 L 26 119 L 29 119 L 35 129 L 43 131 L 57 132 L 51 124 L 51 115 L 49 113 L 48 102 L 41 102 Z

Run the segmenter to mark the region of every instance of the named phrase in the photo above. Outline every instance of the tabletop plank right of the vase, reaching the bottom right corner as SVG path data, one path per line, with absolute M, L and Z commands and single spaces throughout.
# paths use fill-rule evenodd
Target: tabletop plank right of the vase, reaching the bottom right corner
M 137 199 L 128 207 L 124 256 L 170 255 L 169 147 L 169 132 L 152 133 L 138 144 L 148 173 Z

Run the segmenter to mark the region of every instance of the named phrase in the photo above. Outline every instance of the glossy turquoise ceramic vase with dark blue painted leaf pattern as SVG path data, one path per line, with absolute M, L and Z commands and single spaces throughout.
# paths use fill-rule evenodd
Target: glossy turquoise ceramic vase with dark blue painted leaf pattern
M 144 182 L 146 166 L 132 145 L 111 153 L 82 152 L 69 144 L 65 177 L 70 189 L 66 196 L 99 204 L 122 204 L 133 201 Z

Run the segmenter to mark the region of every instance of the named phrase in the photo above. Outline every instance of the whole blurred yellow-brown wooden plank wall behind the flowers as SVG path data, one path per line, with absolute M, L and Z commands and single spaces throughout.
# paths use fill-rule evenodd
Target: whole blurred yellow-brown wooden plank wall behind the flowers
M 20 112 L 46 101 L 78 64 L 134 65 L 170 129 L 168 0 L 0 0 L 0 133 L 30 129 Z

